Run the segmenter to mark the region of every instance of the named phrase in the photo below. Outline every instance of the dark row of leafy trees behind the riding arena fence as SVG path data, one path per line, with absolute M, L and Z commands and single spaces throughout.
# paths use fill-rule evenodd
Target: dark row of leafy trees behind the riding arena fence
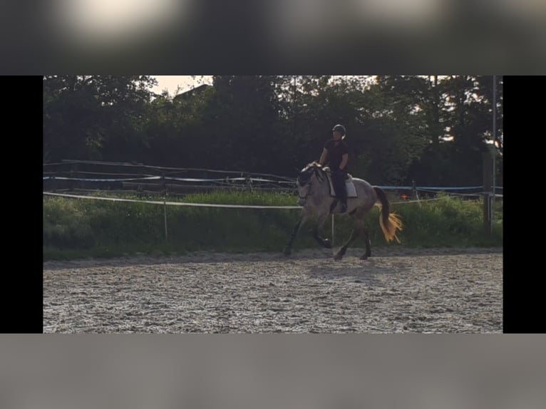
M 503 77 L 213 76 L 179 95 L 151 76 L 44 76 L 43 162 L 140 162 L 294 176 L 346 127 L 372 184 L 481 185 L 503 174 Z M 496 135 L 493 135 L 493 88 Z M 496 145 L 488 143 L 496 140 Z

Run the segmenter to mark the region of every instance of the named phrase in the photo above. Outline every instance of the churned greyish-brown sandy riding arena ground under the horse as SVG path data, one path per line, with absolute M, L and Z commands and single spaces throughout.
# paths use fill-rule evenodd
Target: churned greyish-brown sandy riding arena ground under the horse
M 44 333 L 502 333 L 503 249 L 43 263 Z

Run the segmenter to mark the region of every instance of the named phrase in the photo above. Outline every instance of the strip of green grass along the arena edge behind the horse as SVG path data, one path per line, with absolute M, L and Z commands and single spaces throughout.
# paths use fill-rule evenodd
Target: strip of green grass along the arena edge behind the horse
M 99 195 L 105 196 L 101 192 Z M 136 195 L 124 195 L 137 199 Z M 501 247 L 502 202 L 495 203 L 493 234 L 485 234 L 481 200 L 459 200 L 439 195 L 439 200 L 393 205 L 403 220 L 401 244 L 387 244 L 379 227 L 379 209 L 366 218 L 372 247 Z M 141 200 L 162 201 L 158 197 Z M 168 202 L 180 199 L 168 197 Z M 218 191 L 187 195 L 184 202 L 224 205 L 294 206 L 297 197 L 271 192 Z M 282 252 L 298 209 L 224 209 L 110 202 L 63 197 L 43 197 L 43 259 L 118 257 L 135 253 L 185 254 L 194 251 Z M 336 216 L 334 246 L 349 238 L 351 218 Z M 308 228 L 302 227 L 294 251 L 316 248 Z M 327 219 L 323 237 L 331 236 Z M 364 247 L 362 240 L 355 247 Z

